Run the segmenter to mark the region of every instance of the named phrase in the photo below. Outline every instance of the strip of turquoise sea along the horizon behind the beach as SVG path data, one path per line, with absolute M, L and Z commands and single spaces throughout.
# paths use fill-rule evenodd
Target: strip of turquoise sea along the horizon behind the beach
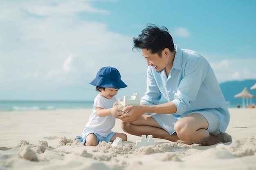
M 0 101 L 0 111 L 92 109 L 93 101 Z M 227 103 L 229 108 L 236 104 Z

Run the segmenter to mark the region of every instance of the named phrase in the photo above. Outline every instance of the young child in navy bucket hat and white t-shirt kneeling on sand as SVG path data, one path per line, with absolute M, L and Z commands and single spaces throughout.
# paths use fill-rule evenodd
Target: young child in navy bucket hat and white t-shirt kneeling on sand
M 127 87 L 121 80 L 119 71 L 110 66 L 102 67 L 90 84 L 96 86 L 99 94 L 94 99 L 93 113 L 83 130 L 83 144 L 97 146 L 100 141 L 113 142 L 117 137 L 127 141 L 126 134 L 112 132 L 115 119 L 119 117 L 119 110 L 113 107 L 117 102 L 115 96 L 120 88 Z

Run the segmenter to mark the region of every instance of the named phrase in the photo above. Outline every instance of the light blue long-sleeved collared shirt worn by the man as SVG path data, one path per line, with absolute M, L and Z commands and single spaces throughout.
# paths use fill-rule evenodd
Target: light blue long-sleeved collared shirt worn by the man
M 176 45 L 175 51 L 168 77 L 164 70 L 159 73 L 153 66 L 148 66 L 147 90 L 141 102 L 157 105 L 164 97 L 177 107 L 173 114 L 177 118 L 196 111 L 213 110 L 218 114 L 220 131 L 224 132 L 230 115 L 211 65 L 195 51 L 180 49 Z

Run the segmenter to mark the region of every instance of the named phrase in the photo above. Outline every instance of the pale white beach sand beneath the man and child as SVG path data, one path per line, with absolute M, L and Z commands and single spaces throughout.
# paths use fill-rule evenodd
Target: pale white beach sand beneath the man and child
M 121 146 L 83 146 L 91 110 L 0 112 L 0 170 L 256 170 L 256 109 L 231 108 L 227 133 L 233 141 L 214 146 L 154 139 L 133 149 L 140 137 Z M 122 132 L 120 120 L 113 129 Z

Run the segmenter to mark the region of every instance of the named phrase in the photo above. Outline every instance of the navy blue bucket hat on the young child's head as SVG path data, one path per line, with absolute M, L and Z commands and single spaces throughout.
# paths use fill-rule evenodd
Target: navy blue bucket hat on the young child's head
M 114 67 L 102 67 L 96 78 L 90 82 L 93 86 L 105 87 L 105 88 L 125 88 L 127 85 L 121 80 L 121 75 L 117 68 Z

